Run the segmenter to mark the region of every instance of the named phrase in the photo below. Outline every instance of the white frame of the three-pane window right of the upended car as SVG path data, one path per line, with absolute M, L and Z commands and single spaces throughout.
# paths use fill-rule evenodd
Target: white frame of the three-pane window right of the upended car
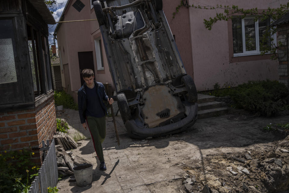
M 260 55 L 260 45 L 259 45 L 259 20 L 255 21 L 255 41 L 256 41 L 256 50 L 252 51 L 246 51 L 246 40 L 245 40 L 245 19 L 254 19 L 255 17 L 245 17 L 242 19 L 242 43 L 243 43 L 243 52 L 242 53 L 234 53 L 234 57 L 238 56 L 246 56 L 246 55 Z M 270 20 L 272 22 L 272 19 Z M 277 36 L 276 33 L 272 35 L 274 38 L 273 42 L 275 45 L 277 44 Z M 270 52 L 267 52 L 265 54 L 270 54 Z

